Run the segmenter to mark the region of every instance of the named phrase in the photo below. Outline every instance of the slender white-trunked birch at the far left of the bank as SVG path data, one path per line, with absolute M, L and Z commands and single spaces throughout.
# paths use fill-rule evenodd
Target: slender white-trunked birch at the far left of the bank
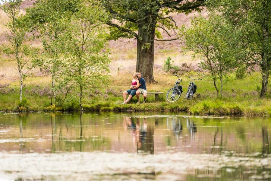
M 9 44 L 2 45 L 0 49 L 8 58 L 17 63 L 16 69 L 20 75 L 19 82 L 21 86 L 20 101 L 22 101 L 23 82 L 27 77 L 27 72 L 33 68 L 30 60 L 33 59 L 37 50 L 24 45 L 27 40 L 27 30 L 19 14 L 22 0 L 6 0 L 3 3 L 0 9 L 4 11 L 10 20 L 7 24 L 8 31 L 5 32 Z

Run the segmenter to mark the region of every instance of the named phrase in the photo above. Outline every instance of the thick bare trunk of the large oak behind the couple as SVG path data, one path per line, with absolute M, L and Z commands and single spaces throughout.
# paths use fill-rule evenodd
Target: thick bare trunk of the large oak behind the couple
M 145 21 L 151 21 L 146 18 Z M 152 18 L 152 22 L 154 22 Z M 155 24 L 155 22 L 153 23 Z M 155 83 L 153 77 L 153 61 L 154 61 L 154 37 L 155 37 L 155 25 L 150 25 L 146 29 L 146 26 L 138 26 L 138 36 L 140 39 L 137 40 L 137 68 L 136 72 L 140 71 L 142 77 L 147 83 Z M 142 38 L 142 40 L 141 40 Z

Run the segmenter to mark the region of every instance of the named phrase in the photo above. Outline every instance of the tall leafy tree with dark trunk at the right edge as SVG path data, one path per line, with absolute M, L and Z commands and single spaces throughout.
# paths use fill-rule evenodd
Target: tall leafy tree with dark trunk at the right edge
M 244 46 L 240 63 L 260 65 L 262 69 L 262 90 L 267 93 L 268 76 L 271 71 L 271 3 L 269 0 L 208 0 L 210 11 L 216 11 L 242 32 Z

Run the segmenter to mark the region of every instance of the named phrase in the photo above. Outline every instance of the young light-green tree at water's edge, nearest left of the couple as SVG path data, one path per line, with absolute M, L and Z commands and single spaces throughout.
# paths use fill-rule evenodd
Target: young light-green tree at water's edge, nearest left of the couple
M 108 52 L 105 49 L 106 30 L 104 12 L 97 6 L 82 5 L 71 19 L 61 21 L 65 27 L 61 43 L 65 61 L 64 79 L 79 88 L 79 105 L 86 89 L 97 88 L 108 82 Z

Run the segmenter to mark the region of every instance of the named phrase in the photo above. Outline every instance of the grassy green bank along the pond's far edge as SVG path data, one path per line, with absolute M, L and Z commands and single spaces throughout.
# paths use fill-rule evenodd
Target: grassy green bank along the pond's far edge
M 156 70 L 157 71 L 157 70 Z M 156 74 L 158 75 L 158 74 Z M 161 74 L 159 74 L 161 75 Z M 192 101 L 184 100 L 189 79 L 187 76 L 201 77 L 202 81 L 196 81 L 198 90 Z M 122 92 L 128 89 L 131 76 L 123 73 L 121 78 L 112 78 L 111 83 L 99 90 L 87 90 L 83 99 L 85 111 L 186 111 L 195 115 L 229 115 L 244 114 L 271 116 L 270 91 L 264 99 L 259 98 L 261 75 L 254 72 L 246 78 L 238 80 L 235 74 L 229 75 L 225 80 L 223 97 L 216 97 L 216 91 L 212 81 L 205 73 L 190 72 L 182 75 L 184 93 L 175 103 L 165 100 L 167 90 L 173 87 L 176 80 L 172 75 L 163 74 L 156 76 L 158 84 L 147 85 L 149 92 L 164 92 L 159 95 L 157 101 L 154 95 L 148 95 L 147 103 L 136 104 L 134 97 L 130 103 L 121 105 L 123 102 Z M 114 76 L 112 76 L 114 77 Z M 63 106 L 50 104 L 49 78 L 31 77 L 27 79 L 24 87 L 25 100 L 19 103 L 19 86 L 16 81 L 1 84 L 0 110 L 1 111 L 76 111 L 79 106 L 73 101 L 77 97 L 77 91 L 73 91 Z M 46 84 L 45 84 L 46 82 Z M 142 101 L 143 97 L 140 96 Z

